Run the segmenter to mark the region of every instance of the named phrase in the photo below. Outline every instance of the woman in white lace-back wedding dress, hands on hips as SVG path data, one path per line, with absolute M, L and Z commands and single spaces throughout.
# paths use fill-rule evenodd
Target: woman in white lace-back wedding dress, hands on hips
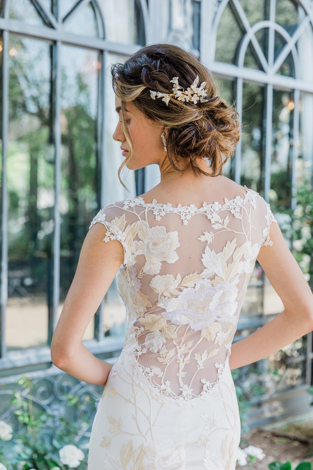
M 311 331 L 312 292 L 269 204 L 221 172 L 239 140 L 237 112 L 198 58 L 153 44 L 111 73 L 119 176 L 124 165 L 158 164 L 161 180 L 92 220 L 52 360 L 105 386 L 89 470 L 234 470 L 241 426 L 231 369 Z M 285 310 L 232 345 L 256 259 Z M 127 334 L 112 367 L 81 340 L 117 271 Z

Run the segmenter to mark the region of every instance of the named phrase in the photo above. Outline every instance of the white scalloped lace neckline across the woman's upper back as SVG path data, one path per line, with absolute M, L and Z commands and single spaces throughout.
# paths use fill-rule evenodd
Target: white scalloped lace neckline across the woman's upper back
M 174 211 L 174 212 L 187 212 L 187 213 L 193 213 L 193 212 L 201 212 L 203 210 L 206 210 L 207 207 L 214 207 L 214 211 L 222 211 L 223 209 L 228 209 L 229 204 L 232 202 L 238 201 L 239 204 L 244 204 L 249 198 L 249 193 L 252 192 L 255 194 L 259 194 L 257 191 L 254 191 L 252 188 L 247 188 L 246 185 L 244 185 L 246 188 L 246 193 L 244 191 L 242 192 L 242 195 L 237 195 L 234 196 L 231 199 L 227 199 L 227 197 L 224 197 L 224 204 L 219 203 L 218 201 L 214 201 L 212 203 L 206 203 L 204 202 L 201 207 L 197 207 L 194 204 L 182 206 L 181 204 L 178 204 L 178 206 L 172 206 L 171 203 L 158 203 L 155 198 L 153 198 L 152 203 L 146 203 L 144 198 L 141 196 L 132 196 L 127 199 L 125 199 L 125 204 L 127 205 L 140 205 L 143 207 L 147 207 L 148 209 L 165 209 L 166 211 Z M 244 197 L 242 197 L 244 195 Z

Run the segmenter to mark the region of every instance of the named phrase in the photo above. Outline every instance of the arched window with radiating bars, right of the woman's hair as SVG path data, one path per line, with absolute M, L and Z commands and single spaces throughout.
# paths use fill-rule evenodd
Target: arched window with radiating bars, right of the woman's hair
M 279 212 L 295 207 L 293 189 L 312 172 L 312 5 L 293 0 L 213 3 L 209 66 L 221 95 L 236 103 L 242 126 L 235 158 L 226 165 L 228 176 L 258 191 L 270 202 L 276 219 L 283 221 Z M 291 241 L 286 242 L 291 247 Z M 256 266 L 236 336 L 283 309 Z M 305 371 L 303 362 L 297 367 Z M 300 375 L 299 383 L 305 380 L 305 374 Z

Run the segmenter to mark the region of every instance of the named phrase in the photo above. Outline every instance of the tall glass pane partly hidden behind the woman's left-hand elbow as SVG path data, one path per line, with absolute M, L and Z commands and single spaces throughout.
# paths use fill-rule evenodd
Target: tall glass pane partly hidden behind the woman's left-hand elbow
M 70 60 L 69 60 L 70 58 Z M 99 194 L 99 53 L 61 47 L 61 259 L 60 305 L 73 280 Z M 83 339 L 94 337 L 94 317 Z

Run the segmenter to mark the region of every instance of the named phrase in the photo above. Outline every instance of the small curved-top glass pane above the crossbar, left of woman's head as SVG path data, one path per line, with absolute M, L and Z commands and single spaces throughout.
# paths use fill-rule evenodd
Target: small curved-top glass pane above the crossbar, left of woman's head
M 76 7 L 64 22 L 64 31 L 82 36 L 99 36 L 96 14 L 92 3 Z

